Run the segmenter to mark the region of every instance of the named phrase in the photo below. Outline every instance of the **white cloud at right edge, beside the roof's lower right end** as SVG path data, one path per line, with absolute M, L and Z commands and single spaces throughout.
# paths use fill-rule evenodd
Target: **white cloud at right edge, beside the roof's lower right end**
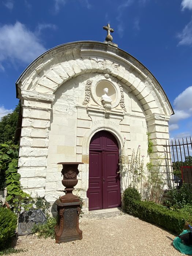
M 180 93 L 173 102 L 176 109 L 192 110 L 192 86 L 189 86 L 182 93 Z

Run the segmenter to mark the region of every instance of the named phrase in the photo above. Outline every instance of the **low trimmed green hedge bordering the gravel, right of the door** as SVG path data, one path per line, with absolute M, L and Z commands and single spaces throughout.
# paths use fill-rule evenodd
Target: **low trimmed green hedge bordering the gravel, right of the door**
M 130 188 L 128 189 L 130 191 Z M 134 198 L 132 200 L 130 194 L 126 190 L 124 192 L 123 199 L 125 204 L 125 212 L 128 214 L 161 226 L 176 234 L 181 233 L 187 221 L 192 222 L 192 217 L 189 216 L 189 214 L 185 214 L 179 210 L 169 210 L 165 206 L 156 204 L 154 202 L 135 200 Z

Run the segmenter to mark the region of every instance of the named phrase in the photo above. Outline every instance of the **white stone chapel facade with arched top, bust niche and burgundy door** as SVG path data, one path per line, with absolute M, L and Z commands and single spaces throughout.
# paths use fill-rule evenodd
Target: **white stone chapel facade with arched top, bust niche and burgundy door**
M 172 106 L 150 71 L 116 46 L 84 41 L 50 49 L 26 68 L 16 90 L 22 105 L 18 172 L 34 197 L 53 204 L 64 194 L 57 163 L 83 162 L 75 188 L 85 210 L 114 207 L 116 202 L 108 201 L 117 196 L 120 204 L 123 184 L 120 177 L 119 191 L 104 195 L 105 166 L 116 171 L 122 149 L 129 161 L 139 144 L 147 162 L 147 132 L 152 158 L 164 155 Z M 91 194 L 93 176 L 100 192 L 95 185 Z

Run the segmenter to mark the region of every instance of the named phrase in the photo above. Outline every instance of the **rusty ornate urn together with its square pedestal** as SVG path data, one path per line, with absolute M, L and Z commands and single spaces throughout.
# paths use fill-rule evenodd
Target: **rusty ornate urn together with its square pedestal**
M 66 195 L 57 200 L 58 221 L 55 230 L 55 242 L 69 242 L 82 239 L 82 231 L 79 229 L 79 214 L 81 211 L 79 197 L 73 195 L 74 186 L 78 183 L 78 165 L 81 162 L 62 162 L 62 184 L 65 186 Z

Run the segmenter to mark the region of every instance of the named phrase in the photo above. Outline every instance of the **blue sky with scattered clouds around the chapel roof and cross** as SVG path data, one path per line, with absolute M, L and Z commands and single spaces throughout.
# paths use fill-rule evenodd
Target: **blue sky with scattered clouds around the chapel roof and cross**
M 0 117 L 17 105 L 15 82 L 31 61 L 67 42 L 103 42 L 107 23 L 165 90 L 170 137 L 192 135 L 192 0 L 0 0 Z

